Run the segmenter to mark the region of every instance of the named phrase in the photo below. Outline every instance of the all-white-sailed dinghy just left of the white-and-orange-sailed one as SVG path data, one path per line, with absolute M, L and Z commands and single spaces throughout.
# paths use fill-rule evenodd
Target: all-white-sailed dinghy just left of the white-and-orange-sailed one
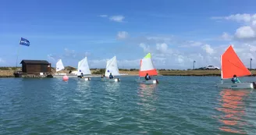
M 113 78 L 113 79 L 109 79 L 109 75 L 110 73 L 112 73 L 112 76 L 120 76 L 120 73 L 119 73 L 119 69 L 118 69 L 118 66 L 117 66 L 117 60 L 116 60 L 116 56 L 114 56 L 112 59 L 109 59 L 107 61 L 107 66 L 106 66 L 106 69 L 105 69 L 105 77 L 104 78 L 101 78 L 101 80 L 103 81 L 111 81 L 111 82 L 119 82 L 120 79 L 119 78 Z

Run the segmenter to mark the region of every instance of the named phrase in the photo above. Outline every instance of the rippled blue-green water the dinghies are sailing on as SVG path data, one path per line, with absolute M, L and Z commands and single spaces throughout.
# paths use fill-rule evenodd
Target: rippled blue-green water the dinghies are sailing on
M 212 76 L 136 78 L 0 79 L 0 134 L 256 133 L 255 91 L 218 89 Z

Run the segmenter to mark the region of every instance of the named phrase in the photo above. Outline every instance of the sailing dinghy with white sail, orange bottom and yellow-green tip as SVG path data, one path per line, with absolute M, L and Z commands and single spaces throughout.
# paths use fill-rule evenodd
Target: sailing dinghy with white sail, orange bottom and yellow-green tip
M 158 83 L 158 80 L 145 80 L 145 79 L 140 80 L 140 77 L 146 76 L 147 73 L 149 76 L 157 76 L 158 75 L 158 72 L 155 69 L 152 59 L 151 59 L 151 53 L 148 53 L 148 55 L 146 55 L 144 57 L 144 59 L 140 60 L 139 79 L 136 81 L 137 81 L 137 83 L 146 83 L 146 84 Z

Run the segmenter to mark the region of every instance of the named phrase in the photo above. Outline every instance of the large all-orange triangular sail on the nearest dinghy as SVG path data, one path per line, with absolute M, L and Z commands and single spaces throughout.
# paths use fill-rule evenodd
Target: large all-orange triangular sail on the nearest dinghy
M 233 47 L 229 45 L 226 52 L 222 55 L 222 79 L 232 78 L 233 75 L 236 76 L 248 76 L 251 72 L 244 66 Z

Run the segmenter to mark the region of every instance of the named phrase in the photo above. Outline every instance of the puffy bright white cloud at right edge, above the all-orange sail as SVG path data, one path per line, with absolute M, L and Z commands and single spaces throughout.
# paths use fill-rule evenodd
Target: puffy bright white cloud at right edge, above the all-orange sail
M 240 39 L 255 37 L 255 31 L 250 26 L 240 27 L 236 30 L 235 36 Z

